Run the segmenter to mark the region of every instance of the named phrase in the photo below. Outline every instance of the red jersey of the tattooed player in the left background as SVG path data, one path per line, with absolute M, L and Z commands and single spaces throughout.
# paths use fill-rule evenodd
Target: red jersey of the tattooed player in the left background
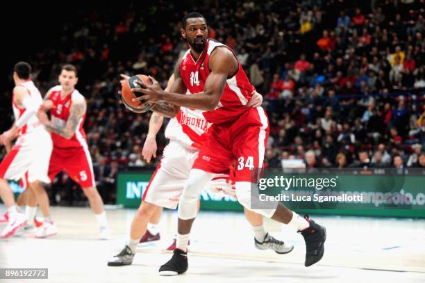
M 81 95 L 78 90 L 74 90 L 69 95 L 62 98 L 60 95 L 61 90 L 61 86 L 51 88 L 51 94 L 49 97 L 49 99 L 53 102 L 53 108 L 50 110 L 51 123 L 53 124 L 53 127 L 65 127 L 69 118 L 69 109 L 71 108 L 72 103 L 76 100 L 84 99 L 83 95 Z M 85 114 L 78 121 L 78 127 L 72 138 L 67 139 L 52 132 L 51 139 L 53 140 L 53 147 L 86 147 L 87 142 L 85 141 L 85 131 L 83 129 L 84 120 Z

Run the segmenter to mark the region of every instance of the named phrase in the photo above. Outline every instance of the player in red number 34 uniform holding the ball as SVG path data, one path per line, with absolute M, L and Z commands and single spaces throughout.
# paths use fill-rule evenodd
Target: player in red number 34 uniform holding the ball
M 238 201 L 247 209 L 294 227 L 306 242 L 305 266 L 315 264 L 324 254 L 324 227 L 277 202 L 267 209 L 251 207 L 251 184 L 256 186 L 253 175 L 258 175 L 253 169 L 263 168 L 269 126 L 263 108 L 246 107 L 253 86 L 238 58 L 226 45 L 208 39 L 206 19 L 199 13 L 188 13 L 183 18 L 181 35 L 190 50 L 177 62 L 170 92 L 163 91 L 155 80 L 152 86 L 140 83 L 142 88 L 135 90 L 144 94 L 140 100 L 147 99 L 157 105 L 162 102 L 163 113 L 167 115 L 176 115 L 178 106 L 197 108 L 206 111 L 203 116 L 213 123 L 178 203 L 177 249 L 172 259 L 160 267 L 160 275 L 177 275 L 188 269 L 187 245 L 197 216 L 199 193 L 214 174 L 223 173 L 233 160 L 238 161 L 235 171 Z M 185 95 L 187 90 L 192 95 Z M 158 107 L 155 111 L 159 112 Z

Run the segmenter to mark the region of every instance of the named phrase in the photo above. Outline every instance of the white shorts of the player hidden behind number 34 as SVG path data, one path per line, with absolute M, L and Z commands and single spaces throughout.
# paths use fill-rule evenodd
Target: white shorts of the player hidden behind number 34
M 198 152 L 198 149 L 171 140 L 164 149 L 163 159 L 153 172 L 142 200 L 159 207 L 176 209 Z M 210 193 L 235 197 L 235 190 L 228 179 L 228 175 L 215 176 L 204 189 L 207 189 Z

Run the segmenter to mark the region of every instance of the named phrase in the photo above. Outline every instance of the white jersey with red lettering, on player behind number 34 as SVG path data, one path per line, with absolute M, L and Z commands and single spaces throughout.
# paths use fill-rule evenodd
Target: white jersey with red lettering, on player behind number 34
M 181 107 L 175 118 L 169 120 L 165 129 L 165 138 L 176 140 L 190 147 L 200 148 L 206 140 L 208 123 L 203 111 Z

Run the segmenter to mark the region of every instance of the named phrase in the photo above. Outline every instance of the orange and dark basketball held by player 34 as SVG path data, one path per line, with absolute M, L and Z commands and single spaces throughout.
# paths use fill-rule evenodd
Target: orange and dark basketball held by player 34
M 122 102 L 126 106 L 126 108 L 135 113 L 145 113 L 151 109 L 153 104 L 149 104 L 148 102 L 141 101 L 133 101 L 133 98 L 142 96 L 142 92 L 133 92 L 133 89 L 140 88 L 140 85 L 136 83 L 136 81 L 143 81 L 147 85 L 151 85 L 152 81 L 149 79 L 149 76 L 145 76 L 144 74 L 137 74 L 135 76 L 131 76 L 127 83 L 124 83 L 122 86 Z

